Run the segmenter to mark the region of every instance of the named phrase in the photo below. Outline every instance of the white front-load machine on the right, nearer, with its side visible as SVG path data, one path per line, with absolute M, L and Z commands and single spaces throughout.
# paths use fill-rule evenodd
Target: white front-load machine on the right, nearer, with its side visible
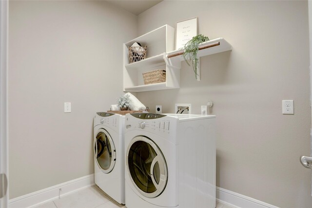
M 127 114 L 127 208 L 215 208 L 215 116 Z

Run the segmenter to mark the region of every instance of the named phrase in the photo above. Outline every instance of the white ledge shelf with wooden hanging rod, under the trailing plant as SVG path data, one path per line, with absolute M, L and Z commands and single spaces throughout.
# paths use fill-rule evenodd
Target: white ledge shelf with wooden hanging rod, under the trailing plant
M 206 48 L 207 47 L 207 48 Z M 223 38 L 217 38 L 214 40 L 210 40 L 207 42 L 202 42 L 198 45 L 198 52 L 197 52 L 197 57 L 202 57 L 202 56 L 208 56 L 211 54 L 215 54 L 215 53 L 221 53 L 224 51 L 229 51 L 232 50 L 232 45 L 227 42 L 226 40 L 224 40 Z M 201 49 L 203 48 L 203 49 Z M 174 50 L 171 52 L 167 53 L 167 57 L 170 58 L 171 56 L 173 57 L 179 57 L 181 59 L 181 61 L 183 61 L 183 57 L 181 56 L 184 52 L 184 49 L 180 49 L 180 50 Z M 179 54 L 179 55 L 177 55 Z M 177 55 L 177 56 L 176 56 Z

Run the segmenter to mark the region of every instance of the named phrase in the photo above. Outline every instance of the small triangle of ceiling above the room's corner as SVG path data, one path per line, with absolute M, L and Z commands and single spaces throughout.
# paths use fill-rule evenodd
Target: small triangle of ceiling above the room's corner
M 139 15 L 163 0 L 107 0 L 108 2 Z

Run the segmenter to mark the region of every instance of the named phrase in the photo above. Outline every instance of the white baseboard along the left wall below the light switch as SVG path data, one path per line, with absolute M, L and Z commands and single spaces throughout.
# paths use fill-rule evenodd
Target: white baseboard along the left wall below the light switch
M 53 187 L 48 187 L 33 193 L 29 193 L 9 200 L 9 208 L 28 208 L 35 207 L 48 201 L 59 198 L 80 189 L 94 186 L 94 174 L 68 181 Z M 59 191 L 61 188 L 61 191 Z

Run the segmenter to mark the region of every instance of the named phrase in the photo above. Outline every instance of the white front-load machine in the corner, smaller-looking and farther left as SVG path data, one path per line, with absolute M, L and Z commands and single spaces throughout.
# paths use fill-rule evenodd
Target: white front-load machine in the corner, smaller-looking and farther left
M 124 120 L 125 116 L 108 112 L 94 117 L 95 183 L 119 204 L 125 204 Z

